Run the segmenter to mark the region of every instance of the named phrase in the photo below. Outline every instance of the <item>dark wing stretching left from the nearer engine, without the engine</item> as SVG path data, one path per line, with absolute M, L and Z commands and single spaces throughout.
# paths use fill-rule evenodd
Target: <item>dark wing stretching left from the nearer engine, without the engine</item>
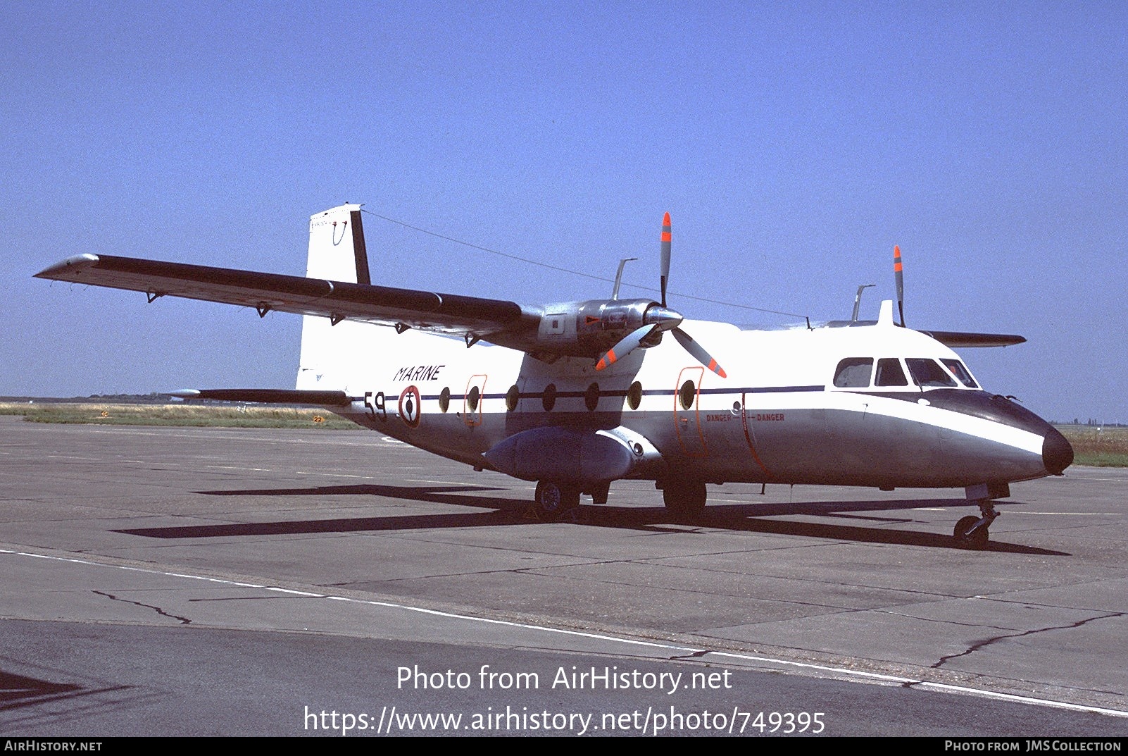
M 186 297 L 254 307 L 259 316 L 271 310 L 321 315 L 334 323 L 403 325 L 487 341 L 494 341 L 491 335 L 530 326 L 536 333 L 539 318 L 517 302 L 500 299 L 111 255 L 68 257 L 35 278 L 143 291 L 149 301 Z

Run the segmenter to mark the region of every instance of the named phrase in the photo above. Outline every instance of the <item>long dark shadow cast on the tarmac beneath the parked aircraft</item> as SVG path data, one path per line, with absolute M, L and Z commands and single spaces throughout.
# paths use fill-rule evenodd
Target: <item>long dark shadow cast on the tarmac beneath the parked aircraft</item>
M 277 520 L 267 522 L 230 522 L 223 525 L 190 525 L 157 528 L 125 528 L 114 530 L 149 538 L 217 538 L 230 536 L 302 535 L 312 533 L 361 533 L 414 530 L 421 528 L 465 528 L 497 525 L 529 525 L 539 521 L 527 499 L 473 495 L 483 491 L 504 491 L 495 486 L 440 485 L 332 485 L 306 489 L 261 489 L 233 491 L 200 491 L 215 496 L 244 495 L 377 495 L 408 501 L 429 501 L 458 507 L 486 509 L 484 512 L 411 515 L 391 517 L 351 517 L 335 519 Z M 1017 502 L 1008 502 L 1017 503 Z M 818 516 L 871 522 L 913 522 L 911 517 L 881 517 L 851 515 L 849 512 L 878 512 L 911 510 L 923 507 L 966 507 L 963 500 L 910 499 L 897 501 L 834 501 L 765 504 L 711 504 L 693 526 L 766 533 L 773 535 L 807 536 L 857 543 L 901 544 L 934 548 L 959 548 L 946 534 L 920 530 L 897 530 L 863 525 L 801 522 L 795 520 L 763 519 L 779 516 Z M 634 530 L 686 533 L 664 507 L 615 507 L 610 504 L 581 506 L 570 512 L 566 521 L 593 527 L 629 528 Z M 691 530 L 690 530 L 691 531 Z M 992 540 L 986 551 L 1043 556 L 1068 556 L 1066 552 L 1007 544 Z

